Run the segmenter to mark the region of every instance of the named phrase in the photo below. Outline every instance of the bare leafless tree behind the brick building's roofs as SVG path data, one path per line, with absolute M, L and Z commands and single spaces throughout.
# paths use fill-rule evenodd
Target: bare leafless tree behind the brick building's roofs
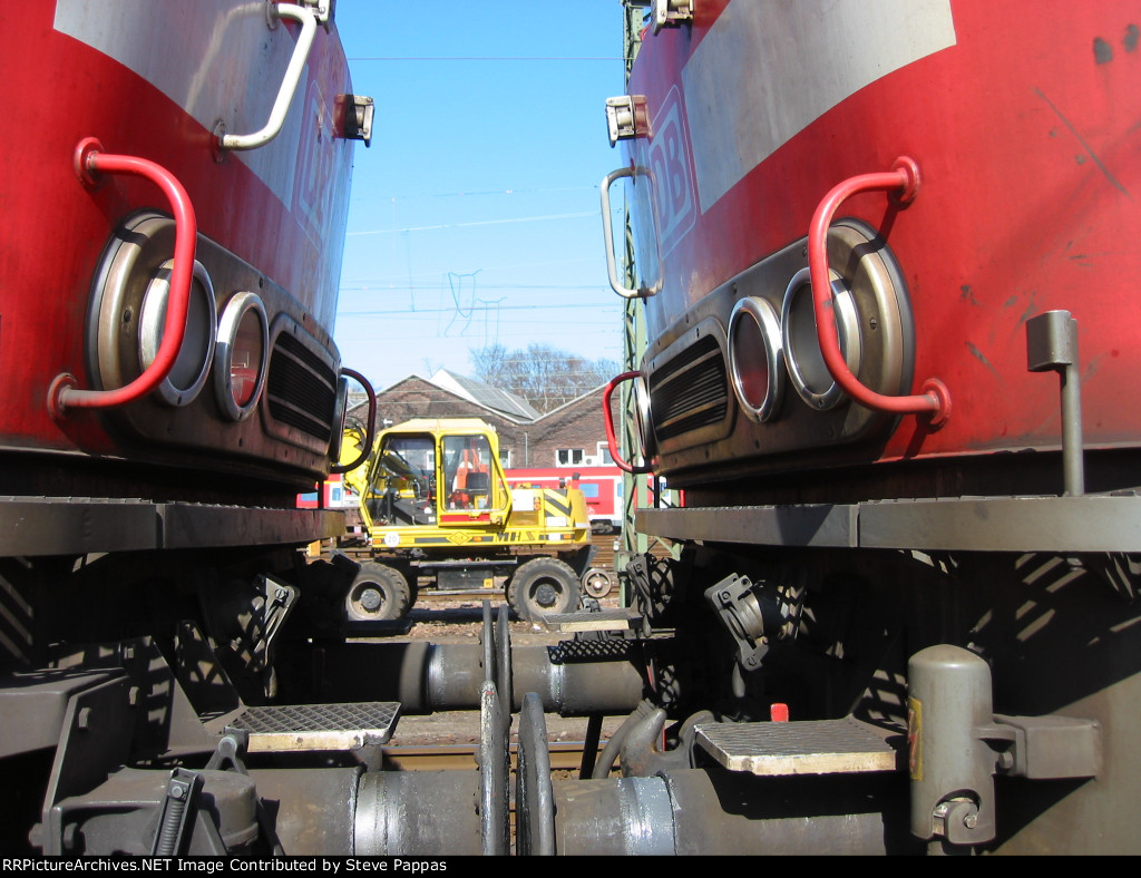
M 477 379 L 523 397 L 543 413 L 605 384 L 620 371 L 614 360 L 589 360 L 539 343 L 511 351 L 491 344 L 471 351 L 470 357 Z

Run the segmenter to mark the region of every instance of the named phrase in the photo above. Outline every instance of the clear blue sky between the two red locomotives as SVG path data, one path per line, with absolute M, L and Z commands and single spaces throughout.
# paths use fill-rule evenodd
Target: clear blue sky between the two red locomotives
M 542 342 L 622 358 L 599 182 L 621 162 L 605 103 L 623 91 L 620 0 L 338 0 L 357 94 L 335 340 L 377 390 L 470 349 Z

